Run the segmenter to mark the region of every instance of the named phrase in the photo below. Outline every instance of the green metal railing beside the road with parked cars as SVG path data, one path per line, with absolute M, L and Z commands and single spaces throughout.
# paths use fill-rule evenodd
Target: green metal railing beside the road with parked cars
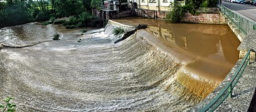
M 225 14 L 229 19 L 242 31 L 245 35 L 247 35 L 250 30 L 256 29 L 256 24 L 244 17 L 240 16 L 239 14 L 231 11 L 229 8 L 220 5 L 222 14 Z

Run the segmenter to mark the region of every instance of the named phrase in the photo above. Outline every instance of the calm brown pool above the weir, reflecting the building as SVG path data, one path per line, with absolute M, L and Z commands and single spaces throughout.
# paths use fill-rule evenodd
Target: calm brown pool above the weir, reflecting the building
M 149 32 L 163 44 L 179 47 L 194 55 L 185 67 L 197 75 L 223 80 L 239 58 L 239 39 L 226 25 L 167 24 L 142 17 L 114 20 L 130 26 L 148 24 Z

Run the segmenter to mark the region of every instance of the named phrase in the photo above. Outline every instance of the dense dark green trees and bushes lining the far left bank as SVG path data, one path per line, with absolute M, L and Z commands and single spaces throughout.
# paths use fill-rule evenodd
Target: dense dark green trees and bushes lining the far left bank
M 91 0 L 7 0 L 0 2 L 0 27 L 47 21 L 51 17 L 74 16 L 81 19 L 79 16 L 83 16 L 82 12 L 91 12 Z M 94 19 L 90 21 L 92 25 L 99 22 L 96 17 L 92 17 L 91 14 L 89 16 L 86 18 Z M 64 22 L 66 21 L 56 21 L 54 24 Z M 82 22 L 77 24 L 76 27 L 84 26 Z

